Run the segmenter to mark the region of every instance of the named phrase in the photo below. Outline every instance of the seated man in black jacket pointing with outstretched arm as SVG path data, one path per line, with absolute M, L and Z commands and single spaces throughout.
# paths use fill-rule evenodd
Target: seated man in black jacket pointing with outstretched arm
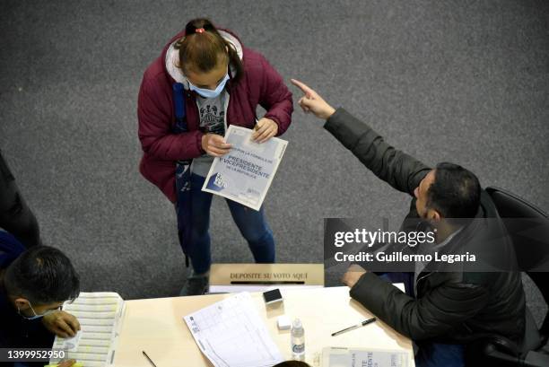
M 499 220 L 491 197 L 470 171 L 451 163 L 432 170 L 387 144 L 344 109 L 333 109 L 307 85 L 292 83 L 305 93 L 300 100 L 305 112 L 326 119 L 324 127 L 379 179 L 412 197 L 407 217 L 431 223 L 437 249 L 485 235 L 470 224 L 452 225 L 447 218 Z M 514 254 L 509 246 L 501 243 L 501 253 Z M 418 264 L 415 269 L 409 294 L 358 266 L 352 266 L 343 281 L 354 300 L 416 342 L 418 367 L 463 366 L 464 345 L 481 336 L 506 336 L 518 346 L 522 343 L 526 304 L 520 273 L 428 272 Z

